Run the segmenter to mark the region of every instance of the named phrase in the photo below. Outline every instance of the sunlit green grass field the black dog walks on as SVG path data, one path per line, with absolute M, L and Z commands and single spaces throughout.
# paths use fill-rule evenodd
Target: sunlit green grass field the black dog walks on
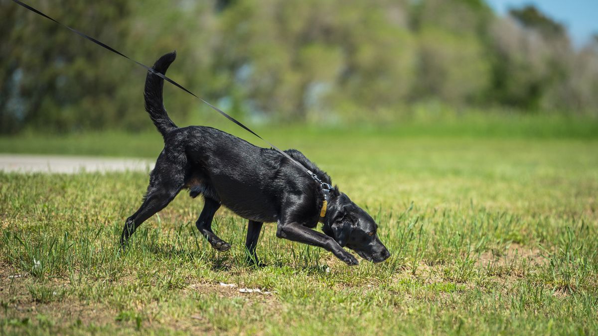
M 0 173 L 0 334 L 596 334 L 598 140 L 498 129 L 267 132 L 379 223 L 392 256 L 356 267 L 275 224 L 257 249 L 267 267 L 250 267 L 246 221 L 225 209 L 215 231 L 233 248 L 215 252 L 185 193 L 122 253 L 147 173 Z M 0 151 L 155 157 L 160 143 L 25 136 Z

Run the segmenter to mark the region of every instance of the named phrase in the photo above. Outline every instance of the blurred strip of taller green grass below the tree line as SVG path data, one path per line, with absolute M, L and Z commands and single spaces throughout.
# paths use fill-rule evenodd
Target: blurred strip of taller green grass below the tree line
M 508 112 L 463 112 L 438 111 L 434 114 L 426 109 L 422 116 L 417 111 L 404 121 L 385 125 L 364 123 L 353 126 L 251 126 L 258 134 L 280 148 L 316 146 L 315 154 L 322 145 L 338 149 L 347 138 L 353 142 L 366 142 L 371 146 L 388 146 L 397 142 L 429 139 L 442 142 L 443 139 L 520 139 L 520 140 L 596 140 L 598 139 L 598 118 L 570 117 L 566 115 L 523 115 Z M 432 109 L 434 111 L 434 109 Z M 209 113 L 206 115 L 206 113 Z M 197 114 L 197 120 L 178 123 L 185 125 L 209 124 L 225 132 L 240 136 L 258 146 L 264 142 L 224 118 L 214 116 L 213 111 Z M 202 120 L 205 117 L 208 121 Z M 216 118 L 213 120 L 213 118 Z M 146 120 L 150 124 L 149 120 Z M 330 145 L 332 143 L 332 145 Z M 44 135 L 26 132 L 14 136 L 0 136 L 0 152 L 33 154 L 108 155 L 113 157 L 157 157 L 163 145 L 155 130 L 140 133 L 122 131 L 81 132 L 70 135 Z

